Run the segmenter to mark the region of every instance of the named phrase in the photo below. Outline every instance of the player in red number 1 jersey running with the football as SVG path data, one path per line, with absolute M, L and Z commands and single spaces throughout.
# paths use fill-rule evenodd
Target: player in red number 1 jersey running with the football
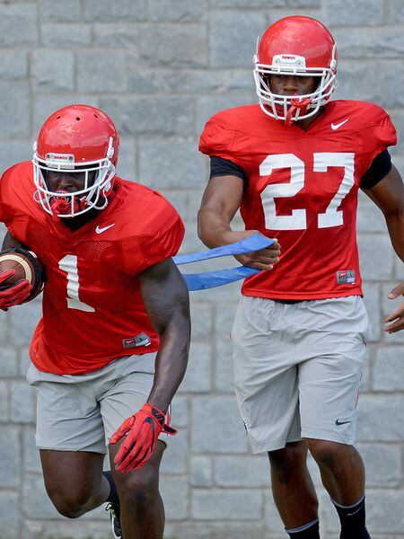
M 32 163 L 0 180 L 3 247 L 30 248 L 46 270 L 28 380 L 50 499 L 72 518 L 109 501 L 115 537 L 161 539 L 159 465 L 189 350 L 188 289 L 171 260 L 184 226 L 158 192 L 116 176 L 118 153 L 101 110 L 52 114 Z M 31 292 L 15 287 L 0 307 Z

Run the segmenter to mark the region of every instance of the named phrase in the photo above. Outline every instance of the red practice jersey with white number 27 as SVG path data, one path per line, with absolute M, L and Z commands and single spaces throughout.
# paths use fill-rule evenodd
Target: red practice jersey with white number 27
M 367 102 L 333 101 L 307 131 L 259 105 L 223 110 L 200 138 L 203 154 L 247 175 L 247 230 L 281 245 L 273 270 L 245 279 L 242 294 L 274 299 L 362 295 L 356 245 L 357 190 L 364 172 L 396 144 L 388 114 Z

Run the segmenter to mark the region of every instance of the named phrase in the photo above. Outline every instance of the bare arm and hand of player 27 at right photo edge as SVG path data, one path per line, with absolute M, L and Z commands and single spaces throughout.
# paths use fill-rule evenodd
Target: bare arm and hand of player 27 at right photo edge
M 364 192 L 382 210 L 394 251 L 404 261 L 404 184 L 395 166 L 391 172 L 372 189 Z M 404 296 L 404 283 L 394 287 L 390 299 Z M 384 331 L 395 333 L 404 329 L 404 303 L 384 319 L 388 325 Z

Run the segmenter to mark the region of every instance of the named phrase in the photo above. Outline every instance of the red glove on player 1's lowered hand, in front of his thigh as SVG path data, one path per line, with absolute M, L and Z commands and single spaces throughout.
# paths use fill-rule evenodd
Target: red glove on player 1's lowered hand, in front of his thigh
M 160 433 L 174 436 L 176 429 L 164 424 L 164 413 L 145 403 L 143 408 L 127 418 L 119 429 L 110 437 L 110 444 L 116 444 L 121 437 L 127 439 L 115 456 L 117 472 L 140 470 L 151 457 Z

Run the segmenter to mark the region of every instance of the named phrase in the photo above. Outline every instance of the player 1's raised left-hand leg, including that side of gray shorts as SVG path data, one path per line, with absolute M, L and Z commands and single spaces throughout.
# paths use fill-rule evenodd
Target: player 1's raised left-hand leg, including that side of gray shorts
M 110 495 L 102 475 L 104 427 L 92 387 L 97 376 L 57 376 L 33 365 L 27 374 L 38 394 L 36 445 L 45 486 L 66 517 L 80 517 Z

